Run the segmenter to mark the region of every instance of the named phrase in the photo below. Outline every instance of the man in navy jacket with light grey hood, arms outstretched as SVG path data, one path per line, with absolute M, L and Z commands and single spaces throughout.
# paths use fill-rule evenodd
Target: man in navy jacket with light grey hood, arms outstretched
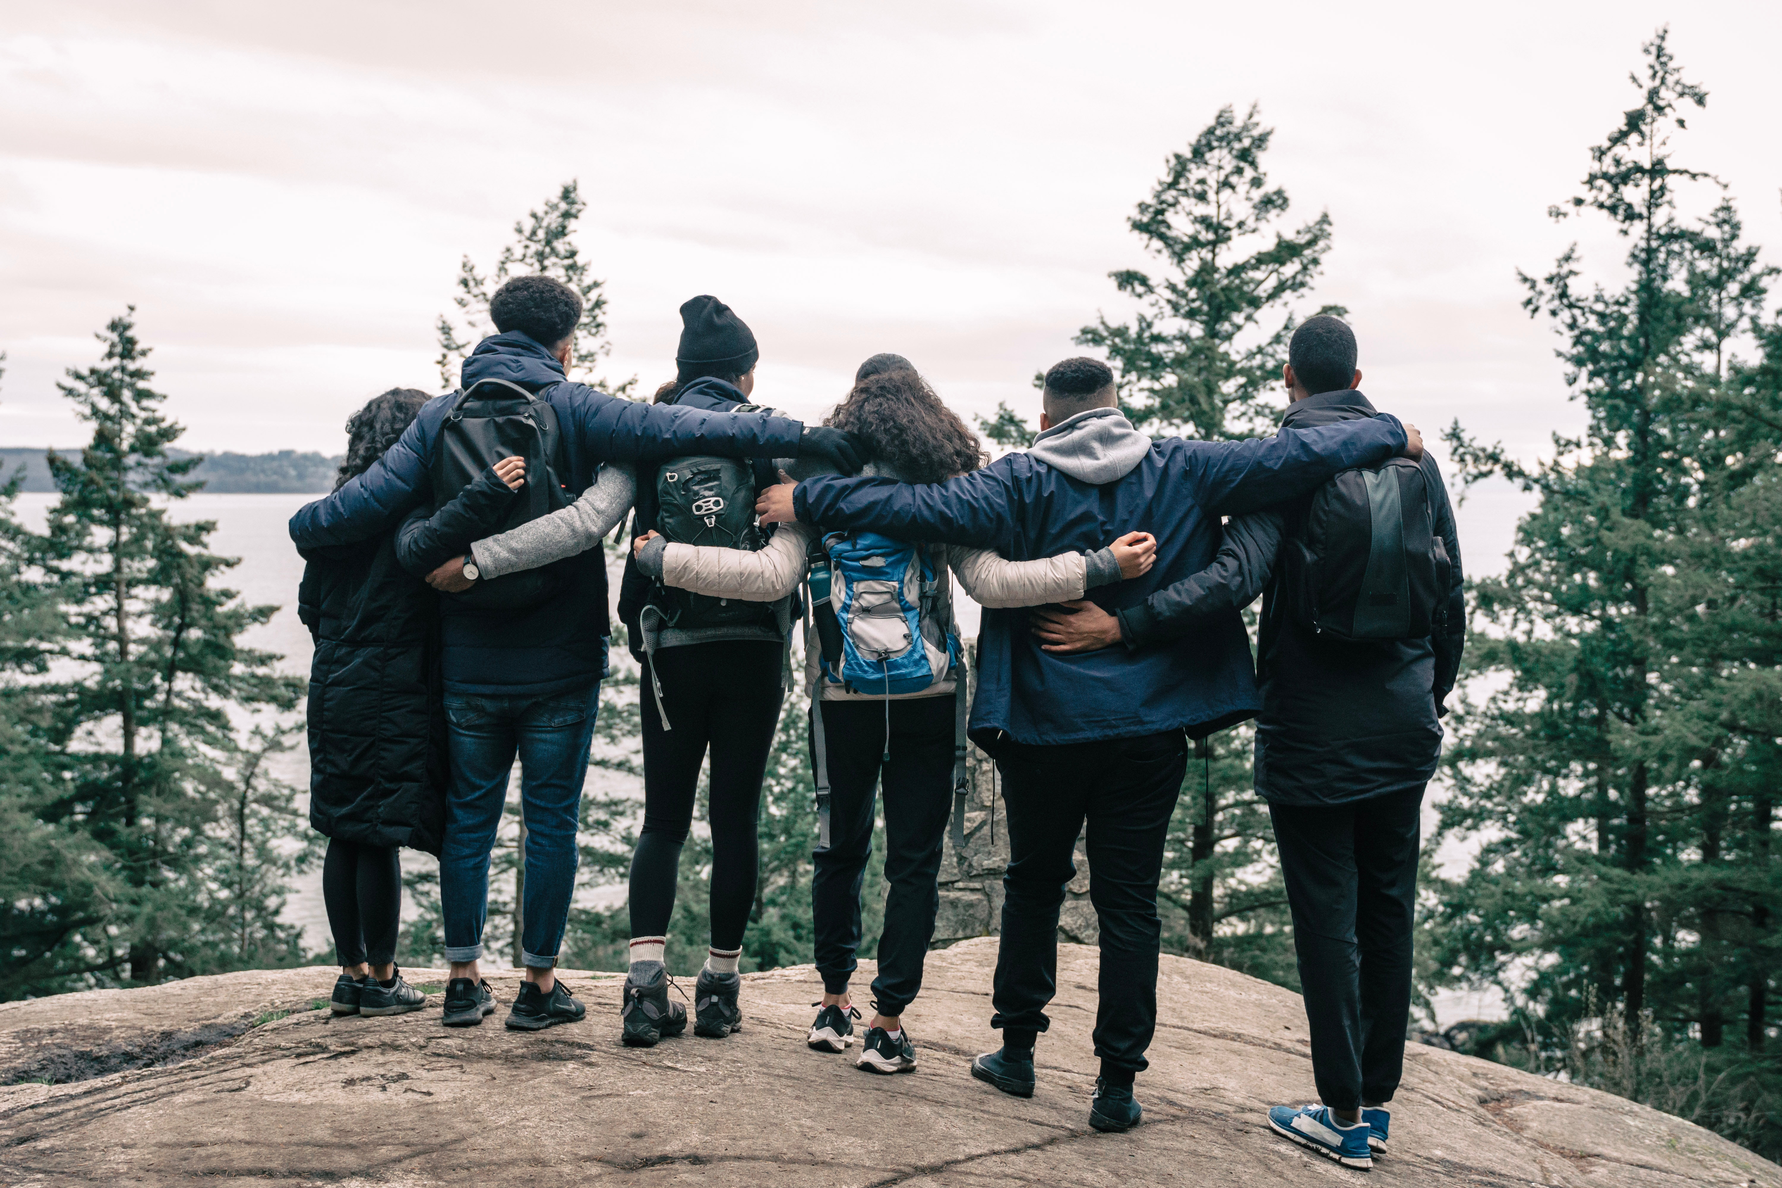
M 820 477 L 773 488 L 761 502 L 764 520 L 977 545 L 1012 561 L 1151 533 L 1157 566 L 1089 595 L 1116 611 L 1205 568 L 1219 549 L 1221 515 L 1263 508 L 1399 452 L 1420 454 L 1422 440 L 1385 415 L 1255 442 L 1151 440 L 1119 413 L 1107 365 L 1075 358 L 1046 372 L 1041 435 L 1026 452 L 950 483 Z M 1169 647 L 1087 655 L 1046 654 L 1026 611 L 984 611 L 971 737 L 1001 773 L 1010 862 L 991 1019 L 1003 1047 L 978 1056 L 973 1076 L 1014 1095 L 1034 1092 L 1034 1040 L 1050 1026 L 1044 1008 L 1057 980 L 1059 908 L 1087 821 L 1101 926 L 1101 1078 L 1089 1120 L 1103 1131 L 1139 1122 L 1132 1083 L 1157 1028 L 1157 883 L 1187 769 L 1185 739 L 1256 709 L 1237 611 Z

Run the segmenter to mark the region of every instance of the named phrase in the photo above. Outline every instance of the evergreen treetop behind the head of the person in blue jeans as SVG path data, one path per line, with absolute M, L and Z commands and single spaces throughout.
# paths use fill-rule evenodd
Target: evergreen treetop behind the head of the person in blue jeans
M 545 199 L 542 208 L 526 212 L 526 217 L 513 224 L 515 239 L 501 249 L 501 258 L 490 276 L 483 276 L 470 256 L 460 262 L 458 294 L 453 297 L 458 313 L 440 313 L 438 322 L 435 322 L 440 342 L 440 354 L 435 360 L 440 369 L 440 383 L 456 387 L 460 363 L 479 338 L 495 333 L 488 321 L 488 299 L 494 292 L 513 276 L 544 274 L 581 294 L 581 324 L 576 326 L 576 346 L 568 358 L 570 379 L 583 379 L 613 395 L 631 395 L 638 383 L 636 376 L 618 385 L 608 385 L 593 376 L 593 369 L 611 353 L 613 344 L 606 340 L 606 281 L 590 274 L 588 262 L 581 258 L 581 248 L 576 246 L 576 224 L 586 208 L 581 183 L 568 180 L 556 198 Z

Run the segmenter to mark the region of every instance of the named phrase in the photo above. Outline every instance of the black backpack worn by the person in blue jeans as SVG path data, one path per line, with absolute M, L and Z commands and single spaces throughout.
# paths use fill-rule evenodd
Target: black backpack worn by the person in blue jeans
M 526 460 L 526 486 L 490 536 L 551 515 L 568 504 L 558 483 L 561 436 L 556 410 L 517 383 L 483 379 L 458 394 L 440 429 L 433 458 L 433 506 L 444 508 L 503 458 Z M 529 611 L 563 588 L 561 563 L 486 577 L 453 602 L 492 613 Z

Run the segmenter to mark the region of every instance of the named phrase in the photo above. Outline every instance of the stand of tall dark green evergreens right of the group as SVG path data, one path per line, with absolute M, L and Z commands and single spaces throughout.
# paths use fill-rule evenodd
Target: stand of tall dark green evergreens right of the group
M 1509 994 L 1522 1060 L 1666 1108 L 1693 1070 L 1711 1088 L 1689 1110 L 1775 1154 L 1782 331 L 1757 322 L 1773 269 L 1730 201 L 1700 223 L 1677 210 L 1679 187 L 1711 182 L 1672 144 L 1705 93 L 1664 32 L 1645 53 L 1639 105 L 1554 208 L 1609 219 L 1625 281 L 1586 283 L 1575 248 L 1522 278 L 1563 338 L 1586 431 L 1536 467 L 1449 433 L 1468 481 L 1506 476 L 1540 506 L 1508 574 L 1474 591 L 1492 631 L 1468 675 L 1495 680 L 1449 720 L 1442 830 L 1479 850 L 1436 889 L 1427 956 Z M 1741 363 L 1750 333 L 1761 358 Z

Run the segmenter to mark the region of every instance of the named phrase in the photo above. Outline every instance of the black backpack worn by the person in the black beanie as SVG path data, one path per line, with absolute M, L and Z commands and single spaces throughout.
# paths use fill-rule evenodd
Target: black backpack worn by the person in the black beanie
M 731 411 L 763 411 L 738 404 Z M 656 531 L 677 545 L 716 545 L 759 552 L 766 534 L 756 525 L 756 472 L 738 458 L 690 454 L 656 470 Z M 775 604 L 743 602 L 656 586 L 650 598 L 668 627 L 777 625 Z

